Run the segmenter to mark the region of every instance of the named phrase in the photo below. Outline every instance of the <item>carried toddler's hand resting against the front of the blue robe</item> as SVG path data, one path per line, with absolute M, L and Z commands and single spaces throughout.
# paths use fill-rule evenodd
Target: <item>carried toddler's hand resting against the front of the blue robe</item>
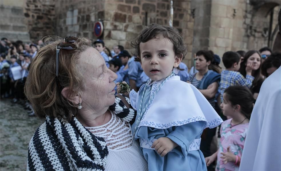
M 151 148 L 155 148 L 158 154 L 164 157 L 168 152 L 173 150 L 178 144 L 167 137 L 161 137 L 155 140 Z

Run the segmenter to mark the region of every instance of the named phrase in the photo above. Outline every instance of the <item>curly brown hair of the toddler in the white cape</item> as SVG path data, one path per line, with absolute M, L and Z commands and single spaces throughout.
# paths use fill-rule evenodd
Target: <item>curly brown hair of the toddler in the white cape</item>
M 175 54 L 184 59 L 187 51 L 186 47 L 184 46 L 182 35 L 180 35 L 178 30 L 174 27 L 153 23 L 142 29 L 139 35 L 131 42 L 131 46 L 135 48 L 135 52 L 133 53 L 135 56 L 135 61 L 141 61 L 139 44 L 141 42 L 144 43 L 151 39 L 155 39 L 159 35 L 162 35 L 164 38 L 168 38 L 170 42 L 174 44 Z

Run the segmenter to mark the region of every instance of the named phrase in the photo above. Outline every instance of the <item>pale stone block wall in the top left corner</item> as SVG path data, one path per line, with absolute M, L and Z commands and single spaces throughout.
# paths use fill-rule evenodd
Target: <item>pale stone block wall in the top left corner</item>
M 29 42 L 29 29 L 24 17 L 25 1 L 0 1 L 0 37 Z

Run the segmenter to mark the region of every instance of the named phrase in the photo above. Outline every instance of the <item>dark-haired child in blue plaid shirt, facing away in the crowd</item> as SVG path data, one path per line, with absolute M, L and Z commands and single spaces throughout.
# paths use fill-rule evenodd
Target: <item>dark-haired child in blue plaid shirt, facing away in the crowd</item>
M 224 90 L 229 86 L 247 86 L 251 87 L 254 77 L 252 76 L 253 65 L 247 64 L 246 78 L 238 72 L 240 68 L 241 57 L 236 52 L 228 51 L 222 56 L 225 70 L 222 71 L 220 76 L 220 103 L 222 103 Z

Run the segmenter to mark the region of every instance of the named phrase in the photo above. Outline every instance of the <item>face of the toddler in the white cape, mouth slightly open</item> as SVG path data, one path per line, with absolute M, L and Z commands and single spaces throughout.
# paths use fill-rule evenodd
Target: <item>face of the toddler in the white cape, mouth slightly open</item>
M 139 44 L 141 65 L 144 73 L 153 81 L 168 77 L 182 58 L 175 55 L 174 45 L 168 38 L 158 36 Z

